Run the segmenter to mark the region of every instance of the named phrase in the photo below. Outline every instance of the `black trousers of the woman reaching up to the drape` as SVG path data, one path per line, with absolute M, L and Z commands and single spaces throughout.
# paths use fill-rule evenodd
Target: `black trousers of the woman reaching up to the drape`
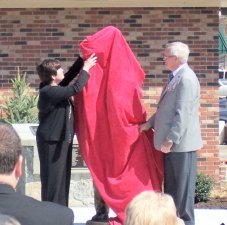
M 72 143 L 37 138 L 42 201 L 68 206 Z

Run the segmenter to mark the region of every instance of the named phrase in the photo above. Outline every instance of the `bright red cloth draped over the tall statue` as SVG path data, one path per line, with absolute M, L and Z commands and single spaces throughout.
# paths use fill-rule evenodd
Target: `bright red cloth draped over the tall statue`
M 161 190 L 162 154 L 154 150 L 152 131 L 140 133 L 146 120 L 141 104 L 144 72 L 122 33 L 109 26 L 80 44 L 98 63 L 81 94 L 75 96 L 76 130 L 81 154 L 105 202 L 123 223 L 129 201 L 144 190 Z

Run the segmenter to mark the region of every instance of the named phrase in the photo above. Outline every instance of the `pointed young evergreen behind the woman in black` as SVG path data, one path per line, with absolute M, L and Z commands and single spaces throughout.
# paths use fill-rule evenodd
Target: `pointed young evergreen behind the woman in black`
M 20 74 L 18 67 L 17 77 L 11 79 L 13 96 L 5 98 L 5 105 L 1 106 L 4 120 L 9 123 L 37 123 L 38 96 L 30 91 L 26 82 L 26 73 Z

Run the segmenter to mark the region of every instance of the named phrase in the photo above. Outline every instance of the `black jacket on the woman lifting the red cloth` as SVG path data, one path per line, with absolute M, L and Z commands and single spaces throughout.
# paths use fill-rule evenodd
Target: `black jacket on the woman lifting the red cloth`
M 42 140 L 64 141 L 73 134 L 74 124 L 73 121 L 69 121 L 70 108 L 73 109 L 70 97 L 80 92 L 89 78 L 89 74 L 82 70 L 78 78 L 71 85 L 68 85 L 83 65 L 81 61 L 76 62 L 72 66 L 74 69 L 71 68 L 65 74 L 65 78 L 58 86 L 41 84 L 38 100 L 39 127 L 37 137 Z M 72 117 L 73 114 L 71 112 Z

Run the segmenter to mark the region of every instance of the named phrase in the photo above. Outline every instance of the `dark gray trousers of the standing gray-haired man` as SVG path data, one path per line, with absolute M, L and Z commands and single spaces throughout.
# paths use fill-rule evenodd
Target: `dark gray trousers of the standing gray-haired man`
M 196 162 L 196 151 L 171 152 L 164 157 L 164 192 L 173 197 L 185 225 L 195 224 Z

